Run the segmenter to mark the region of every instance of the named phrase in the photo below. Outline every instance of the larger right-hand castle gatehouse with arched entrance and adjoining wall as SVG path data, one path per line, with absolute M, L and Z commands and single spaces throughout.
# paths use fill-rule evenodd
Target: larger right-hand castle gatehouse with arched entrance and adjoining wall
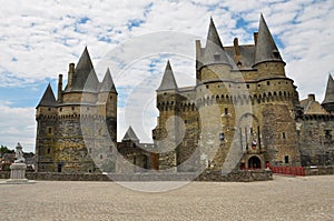
M 322 117 L 304 111 L 263 17 L 254 42 L 224 47 L 212 20 L 206 46 L 196 41 L 196 86 L 178 88 L 168 61 L 154 130 L 160 169 L 333 164 L 331 110 Z

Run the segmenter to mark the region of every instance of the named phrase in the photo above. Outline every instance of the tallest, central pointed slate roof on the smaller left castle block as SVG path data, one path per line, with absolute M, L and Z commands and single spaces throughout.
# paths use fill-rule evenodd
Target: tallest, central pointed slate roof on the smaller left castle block
M 87 47 L 85 47 L 85 50 L 75 70 L 72 86 L 68 89 L 68 91 L 81 92 L 85 90 L 88 92 L 97 92 L 98 86 L 98 78 L 94 70 Z

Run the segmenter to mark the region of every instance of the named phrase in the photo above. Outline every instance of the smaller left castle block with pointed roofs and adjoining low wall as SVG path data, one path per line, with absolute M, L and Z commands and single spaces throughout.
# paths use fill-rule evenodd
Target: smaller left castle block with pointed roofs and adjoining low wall
M 117 143 L 117 96 L 109 70 L 102 82 L 97 80 L 86 48 L 77 67 L 69 64 L 65 89 L 59 76 L 58 99 L 49 84 L 37 107 L 37 171 L 134 171 L 132 167 L 124 167 L 127 163 L 117 163 L 124 152 L 128 155 L 120 162 L 132 165 L 137 158 L 139 167 L 150 168 L 150 153 L 138 147 L 131 149 L 129 142 Z M 129 148 L 131 152 L 127 151 Z

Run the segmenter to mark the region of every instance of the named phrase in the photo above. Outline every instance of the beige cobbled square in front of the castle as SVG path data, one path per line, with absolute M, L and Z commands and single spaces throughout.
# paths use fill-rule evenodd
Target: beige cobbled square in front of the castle
M 160 193 L 112 182 L 1 184 L 0 220 L 334 220 L 334 175 L 274 179 Z

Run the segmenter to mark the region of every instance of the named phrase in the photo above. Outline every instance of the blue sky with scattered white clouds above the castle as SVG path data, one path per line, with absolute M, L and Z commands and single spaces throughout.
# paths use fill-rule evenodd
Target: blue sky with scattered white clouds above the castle
M 253 43 L 262 12 L 301 99 L 315 93 L 322 101 L 328 73 L 334 72 L 332 0 L 0 0 L 0 144 L 9 148 L 21 142 L 26 151 L 35 150 L 35 107 L 49 82 L 57 93 L 58 74 L 63 73 L 67 80 L 68 63 L 78 61 L 85 46 L 100 80 L 106 67 L 112 66 L 105 62 L 108 56 L 117 57 L 122 46 L 130 46 L 130 51 L 137 53 L 127 58 L 121 68 L 111 67 L 119 92 L 118 137 L 124 135 L 129 124 L 136 124 L 128 117 L 132 109 L 127 109 L 136 100 L 136 96 L 130 96 L 136 94 L 132 87 L 136 86 L 147 90 L 147 97 L 145 111 L 140 111 L 145 120 L 134 128 L 138 137 L 148 141 L 157 114 L 154 90 L 166 60 L 170 59 L 179 86 L 194 84 L 193 40 L 206 37 L 210 16 L 223 44 L 230 46 L 235 37 L 242 44 Z M 149 37 L 156 33 L 151 40 Z M 150 46 L 165 42 L 160 33 L 168 39 L 184 34 L 190 41 L 185 46 L 189 50 L 179 51 L 175 46 L 175 50 L 164 49 L 166 53 L 150 51 Z M 185 43 L 181 39 L 175 42 Z

